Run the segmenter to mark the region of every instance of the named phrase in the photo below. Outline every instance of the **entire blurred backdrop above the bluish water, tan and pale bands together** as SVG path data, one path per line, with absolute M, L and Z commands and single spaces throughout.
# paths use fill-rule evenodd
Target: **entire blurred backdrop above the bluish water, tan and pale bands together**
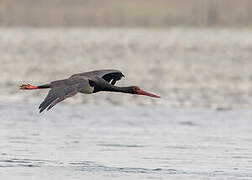
M 163 99 L 120 94 L 65 103 L 251 109 L 250 0 L 0 0 L 0 99 L 38 103 L 21 92 L 95 69 L 119 69 L 121 85 Z M 119 98 L 120 97 L 120 98 Z

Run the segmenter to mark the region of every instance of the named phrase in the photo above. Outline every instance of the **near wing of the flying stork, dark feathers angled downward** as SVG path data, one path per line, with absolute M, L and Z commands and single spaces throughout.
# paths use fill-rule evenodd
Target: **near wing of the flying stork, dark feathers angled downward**
M 44 101 L 39 105 L 39 112 L 43 112 L 46 108 L 50 110 L 64 99 L 76 95 L 81 88 L 88 85 L 88 79 L 79 76 L 51 82 L 52 89 L 48 92 Z

